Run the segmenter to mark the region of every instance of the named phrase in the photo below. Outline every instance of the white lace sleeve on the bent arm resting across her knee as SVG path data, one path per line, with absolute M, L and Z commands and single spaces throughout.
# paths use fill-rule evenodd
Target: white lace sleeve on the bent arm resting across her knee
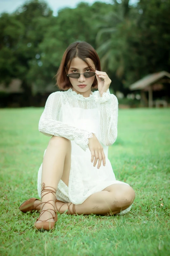
M 59 136 L 74 140 L 84 151 L 88 147 L 92 132 L 69 126 L 57 121 L 61 108 L 61 92 L 50 94 L 46 101 L 45 109 L 40 117 L 38 129 L 46 136 Z M 95 134 L 95 133 L 94 133 Z M 95 134 L 96 135 L 96 134 Z

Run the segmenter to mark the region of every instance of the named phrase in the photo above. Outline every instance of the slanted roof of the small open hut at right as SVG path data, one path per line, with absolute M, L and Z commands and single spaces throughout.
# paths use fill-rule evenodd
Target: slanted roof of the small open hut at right
M 166 72 L 166 71 L 161 71 L 158 73 L 154 73 L 154 74 L 150 74 L 146 77 L 143 77 L 142 79 L 138 80 L 137 82 L 131 84 L 129 86 L 129 89 L 131 91 L 133 90 L 142 90 L 145 87 L 149 86 L 150 84 L 153 84 L 155 82 L 157 82 L 158 80 L 160 80 L 163 77 L 169 77 L 170 78 L 170 73 Z

